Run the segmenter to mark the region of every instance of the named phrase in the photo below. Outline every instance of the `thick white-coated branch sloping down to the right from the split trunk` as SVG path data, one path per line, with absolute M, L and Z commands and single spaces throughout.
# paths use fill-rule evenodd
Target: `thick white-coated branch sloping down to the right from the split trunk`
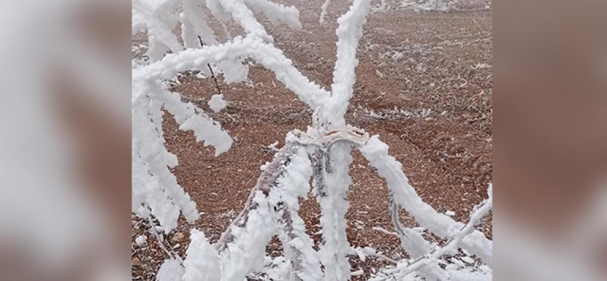
M 403 173 L 403 165 L 389 155 L 388 145 L 380 141 L 377 136 L 373 136 L 366 145 L 360 147 L 360 152 L 363 152 L 365 158 L 386 180 L 388 188 L 393 192 L 394 200 L 405 208 L 420 226 L 443 238 L 449 237 L 451 228 L 464 226 L 449 216 L 439 214 L 429 204 L 422 201 L 422 198 L 417 195 L 415 189 L 409 184 L 407 176 Z M 462 240 L 461 245 L 462 248 L 468 250 L 471 254 L 476 254 L 488 266 L 491 266 L 492 242 L 483 233 L 475 230 Z

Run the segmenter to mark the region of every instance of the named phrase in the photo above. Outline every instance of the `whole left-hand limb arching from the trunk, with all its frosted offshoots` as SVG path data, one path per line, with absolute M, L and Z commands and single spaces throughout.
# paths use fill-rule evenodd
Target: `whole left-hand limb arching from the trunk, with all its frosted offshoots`
M 234 19 L 247 32 L 247 37 L 219 44 L 207 25 L 203 5 L 219 20 Z M 157 217 L 167 232 L 176 227 L 179 214 L 190 222 L 195 221 L 198 214 L 195 203 L 169 170 L 178 161 L 164 147 L 163 110 L 173 115 L 179 129 L 192 130 L 197 141 L 214 146 L 216 156 L 229 150 L 233 143 L 221 124 L 201 108 L 184 103 L 178 93 L 169 92 L 167 80 L 186 70 L 206 73 L 213 63 L 223 72 L 226 83 L 242 81 L 248 74 L 242 60 L 251 57 L 274 70 L 278 79 L 311 107 L 318 107 L 323 97 L 329 96 L 296 70 L 282 51 L 263 41 L 272 39 L 254 18 L 251 8 L 264 13 L 275 24 L 301 28 L 296 8 L 267 0 L 133 1 L 132 32 L 147 32 L 149 48 L 148 60 L 136 61 L 132 73 L 133 175 L 136 175 L 133 176 L 132 210 L 141 216 Z M 180 23 L 185 46 L 173 32 Z M 167 51 L 171 54 L 167 55 Z M 211 100 L 211 109 L 221 110 L 225 107 L 222 101 L 221 97 L 215 97 Z

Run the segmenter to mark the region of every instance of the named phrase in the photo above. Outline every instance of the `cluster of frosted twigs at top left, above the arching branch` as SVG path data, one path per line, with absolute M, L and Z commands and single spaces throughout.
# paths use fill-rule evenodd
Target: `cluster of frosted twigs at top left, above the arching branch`
M 286 7 L 268 0 L 207 0 L 204 4 L 222 22 L 234 19 L 244 32 L 270 43 L 273 38 L 256 20 L 252 9 L 266 15 L 275 25 L 284 23 L 294 30 L 301 29 L 299 11 L 292 6 Z M 148 33 L 149 49 L 146 55 L 150 61 L 161 59 L 167 53 L 167 48 L 172 53 L 183 51 L 184 46 L 172 32 L 179 22 L 185 48 L 196 48 L 199 36 L 204 44 L 218 44 L 207 25 L 202 5 L 202 0 L 133 0 L 131 32 Z M 181 13 L 178 13 L 180 10 Z

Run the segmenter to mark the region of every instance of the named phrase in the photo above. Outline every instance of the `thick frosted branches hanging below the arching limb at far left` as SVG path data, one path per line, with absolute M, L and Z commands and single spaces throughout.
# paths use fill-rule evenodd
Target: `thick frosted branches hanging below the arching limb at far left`
M 181 124 L 181 129 L 194 131 L 197 141 L 213 145 L 215 155 L 226 152 L 233 140 L 221 125 L 192 103 L 183 103 L 180 96 L 167 91 L 162 82 L 151 81 L 138 90 L 142 96 L 133 103 L 132 109 L 133 213 L 147 217 L 151 211 L 168 232 L 176 228 L 180 211 L 190 222 L 199 216 L 196 204 L 169 170 L 178 161 L 164 147 L 162 107 Z

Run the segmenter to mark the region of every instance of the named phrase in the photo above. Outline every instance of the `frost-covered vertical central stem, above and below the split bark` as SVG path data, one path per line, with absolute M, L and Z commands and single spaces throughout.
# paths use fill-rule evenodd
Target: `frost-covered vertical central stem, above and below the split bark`
M 332 130 L 327 132 L 329 136 L 348 128 L 344 115 L 353 91 L 358 39 L 363 34 L 363 24 L 369 8 L 370 0 L 354 0 L 350 10 L 338 20 L 339 41 L 332 93 L 327 102 L 323 103 L 322 109 L 318 110 L 318 114 L 321 115 L 318 125 L 326 128 L 317 129 L 318 131 Z M 345 218 L 349 207 L 346 193 L 352 183 L 348 175 L 352 162 L 350 146 L 351 143 L 336 143 L 330 151 L 320 153 L 322 159 L 315 160 L 317 165 L 322 163 L 322 167 L 315 169 L 321 171 L 320 174 L 315 174 L 315 183 L 320 184 L 315 189 L 319 191 L 317 200 L 322 212 L 320 224 L 323 232 L 319 254 L 320 261 L 325 267 L 324 280 L 327 281 L 346 281 L 351 276 L 347 257 L 350 244 L 346 237 Z M 315 155 L 318 155 L 318 151 Z

